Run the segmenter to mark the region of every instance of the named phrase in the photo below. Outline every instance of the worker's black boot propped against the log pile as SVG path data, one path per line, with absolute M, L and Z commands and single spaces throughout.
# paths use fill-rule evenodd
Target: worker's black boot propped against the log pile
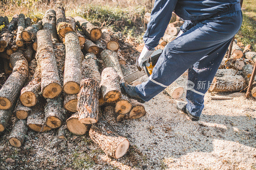
M 137 100 L 140 103 L 145 103 L 144 100 L 140 98 L 140 96 L 137 94 L 135 90 L 135 86 L 132 85 L 127 85 L 126 83 L 121 83 L 120 84 L 121 91 L 130 99 Z

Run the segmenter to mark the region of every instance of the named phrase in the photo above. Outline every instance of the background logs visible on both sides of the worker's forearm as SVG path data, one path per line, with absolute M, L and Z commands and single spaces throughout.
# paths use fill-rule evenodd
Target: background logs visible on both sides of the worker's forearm
M 146 12 L 144 16 L 145 24 L 150 21 L 150 13 Z M 164 36 L 159 41 L 159 45 L 165 46 L 169 42 L 176 39 L 177 35 L 180 33 L 180 26 L 184 23 L 183 19 L 178 17 L 174 12 L 172 12 L 172 17 L 170 23 L 168 24 Z

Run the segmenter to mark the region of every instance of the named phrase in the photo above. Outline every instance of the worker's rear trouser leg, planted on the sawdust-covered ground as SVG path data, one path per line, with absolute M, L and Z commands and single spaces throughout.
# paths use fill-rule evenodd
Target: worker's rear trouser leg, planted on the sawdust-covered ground
M 204 94 L 212 84 L 212 80 L 228 49 L 231 40 L 226 41 L 216 50 L 204 56 L 188 69 L 188 85 L 186 100 L 190 114 L 199 117 L 204 108 Z

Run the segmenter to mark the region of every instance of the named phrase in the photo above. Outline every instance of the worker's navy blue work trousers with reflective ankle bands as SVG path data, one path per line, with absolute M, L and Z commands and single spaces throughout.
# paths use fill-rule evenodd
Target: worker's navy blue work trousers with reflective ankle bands
M 195 23 L 165 46 L 148 81 L 136 85 L 138 95 L 148 101 L 188 70 L 187 108 L 192 115 L 200 116 L 204 94 L 241 24 L 241 10 Z

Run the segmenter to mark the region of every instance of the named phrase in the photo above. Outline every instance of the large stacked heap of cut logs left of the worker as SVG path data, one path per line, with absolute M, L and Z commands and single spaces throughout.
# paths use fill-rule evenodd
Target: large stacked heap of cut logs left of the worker
M 120 90 L 125 59 L 118 54 L 118 36 L 82 17 L 66 17 L 63 7 L 47 10 L 32 25 L 24 14 L 10 23 L 3 18 L 0 57 L 9 77 L 0 90 L 0 132 L 12 113 L 18 118 L 10 144 L 20 147 L 28 128 L 58 128 L 59 138 L 65 138 L 67 128 L 79 135 L 89 132 L 108 156 L 122 157 L 129 141 L 110 124 L 146 111 Z

